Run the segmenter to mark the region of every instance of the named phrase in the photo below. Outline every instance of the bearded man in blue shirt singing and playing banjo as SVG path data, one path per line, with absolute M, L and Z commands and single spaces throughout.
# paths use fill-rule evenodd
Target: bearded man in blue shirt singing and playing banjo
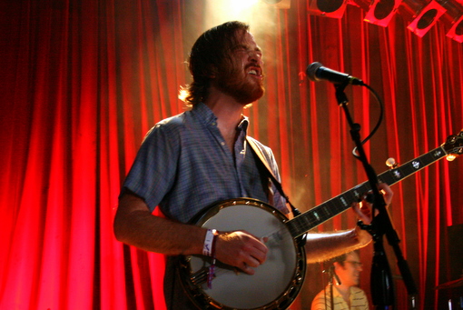
M 242 111 L 263 95 L 262 64 L 261 48 L 248 25 L 229 22 L 202 34 L 189 57 L 192 84 L 184 89 L 191 109 L 150 130 L 123 184 L 114 234 L 125 244 L 169 255 L 164 278 L 169 309 L 196 308 L 174 275 L 177 255 L 213 256 L 250 278 L 268 259 L 260 235 L 193 225 L 194 215 L 223 200 L 250 197 L 292 216 L 275 185 L 269 188 L 268 177 L 262 177 L 246 140 L 249 120 Z M 280 178 L 271 149 L 255 143 Z M 389 187 L 380 187 L 389 204 Z M 166 218 L 152 215 L 156 206 Z M 326 260 L 369 241 L 369 233 L 358 227 L 308 234 L 307 261 Z

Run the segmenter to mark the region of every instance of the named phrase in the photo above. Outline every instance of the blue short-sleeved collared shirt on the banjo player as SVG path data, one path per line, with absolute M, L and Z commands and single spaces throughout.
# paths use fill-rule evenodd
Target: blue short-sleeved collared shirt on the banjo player
M 233 156 L 207 105 L 161 121 L 144 138 L 123 187 L 141 196 L 152 211 L 159 205 L 164 215 L 183 223 L 226 199 L 251 197 L 269 203 L 245 142 L 248 124 L 244 117 L 237 128 Z M 271 149 L 258 146 L 274 175 L 280 177 Z M 274 186 L 273 193 L 270 204 L 288 213 Z

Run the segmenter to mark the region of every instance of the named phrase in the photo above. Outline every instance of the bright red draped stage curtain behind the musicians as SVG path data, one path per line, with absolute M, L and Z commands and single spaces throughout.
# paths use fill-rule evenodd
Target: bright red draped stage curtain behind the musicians
M 253 105 L 251 135 L 270 145 L 292 203 L 306 211 L 363 182 L 328 82 L 304 79 L 319 61 L 371 85 L 385 117 L 365 145 L 373 167 L 425 154 L 463 127 L 463 45 L 439 23 L 419 38 L 401 16 L 382 28 L 348 5 L 342 19 L 307 14 L 308 1 L 270 8 L 251 31 L 264 51 L 266 95 Z M 182 112 L 184 61 L 205 3 L 187 0 L 3 1 L 0 4 L 0 307 L 163 309 L 163 255 L 121 245 L 112 222 L 124 175 L 146 131 Z M 350 111 L 368 135 L 379 115 L 366 88 L 348 87 Z M 419 308 L 438 308 L 449 273 L 448 226 L 463 224 L 463 160 L 409 177 L 390 215 L 402 240 Z M 320 230 L 355 224 L 346 212 Z M 361 286 L 369 291 L 372 247 Z M 393 255 L 389 264 L 399 275 Z M 322 287 L 310 266 L 295 308 Z M 399 309 L 407 294 L 395 276 Z

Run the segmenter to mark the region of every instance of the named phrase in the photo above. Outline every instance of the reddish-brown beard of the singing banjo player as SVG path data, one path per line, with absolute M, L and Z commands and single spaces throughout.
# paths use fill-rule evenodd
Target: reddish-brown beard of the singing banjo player
M 261 98 L 264 87 L 258 79 L 250 81 L 247 75 L 238 70 L 230 70 L 218 75 L 215 81 L 217 88 L 224 94 L 231 95 L 242 105 L 248 105 Z

